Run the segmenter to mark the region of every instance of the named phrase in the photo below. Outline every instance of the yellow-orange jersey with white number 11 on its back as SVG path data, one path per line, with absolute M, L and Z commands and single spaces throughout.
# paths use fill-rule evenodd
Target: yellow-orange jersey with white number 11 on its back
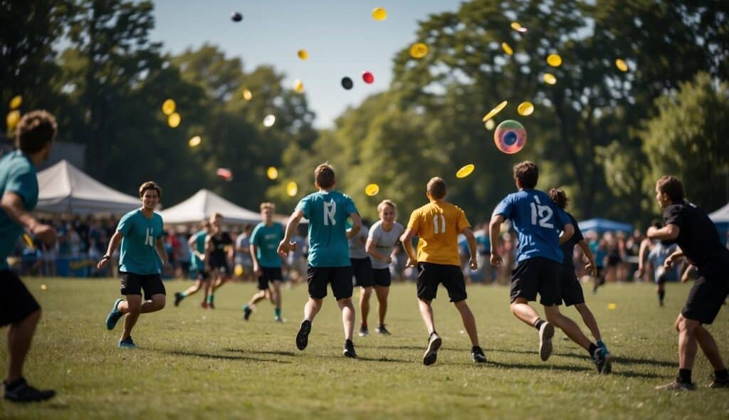
M 418 262 L 461 266 L 458 235 L 470 228 L 466 213 L 445 201 L 431 201 L 410 214 L 408 228 L 418 236 Z

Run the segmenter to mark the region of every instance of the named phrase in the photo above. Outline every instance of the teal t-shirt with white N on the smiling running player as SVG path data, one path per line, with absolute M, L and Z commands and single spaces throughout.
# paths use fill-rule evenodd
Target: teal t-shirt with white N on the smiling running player
M 124 235 L 119 257 L 119 271 L 135 274 L 159 274 L 160 263 L 155 242 L 162 236 L 162 216 L 147 219 L 141 209 L 125 214 L 117 225 Z

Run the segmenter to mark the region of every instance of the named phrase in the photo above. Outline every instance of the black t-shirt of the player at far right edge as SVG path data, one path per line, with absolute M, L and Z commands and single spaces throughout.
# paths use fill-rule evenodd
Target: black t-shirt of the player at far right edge
M 729 274 L 729 249 L 706 211 L 685 201 L 674 203 L 663 211 L 663 224 L 679 227 L 675 242 L 702 276 Z

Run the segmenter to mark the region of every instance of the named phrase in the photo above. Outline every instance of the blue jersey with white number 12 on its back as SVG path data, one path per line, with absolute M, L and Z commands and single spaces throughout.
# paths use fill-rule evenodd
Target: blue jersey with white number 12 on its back
M 550 200 L 547 193 L 521 190 L 507 195 L 494 209 L 494 216 L 496 214 L 511 219 L 518 233 L 517 263 L 534 257 L 562 263 L 559 233 L 569 223 L 569 217 Z

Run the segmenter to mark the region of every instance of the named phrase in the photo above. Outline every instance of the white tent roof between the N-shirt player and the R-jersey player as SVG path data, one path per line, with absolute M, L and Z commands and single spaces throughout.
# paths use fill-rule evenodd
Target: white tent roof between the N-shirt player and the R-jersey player
M 261 215 L 238 207 L 208 190 L 200 190 L 182 203 L 160 211 L 165 224 L 196 223 L 213 213 L 225 217 L 225 223 L 257 223 Z

